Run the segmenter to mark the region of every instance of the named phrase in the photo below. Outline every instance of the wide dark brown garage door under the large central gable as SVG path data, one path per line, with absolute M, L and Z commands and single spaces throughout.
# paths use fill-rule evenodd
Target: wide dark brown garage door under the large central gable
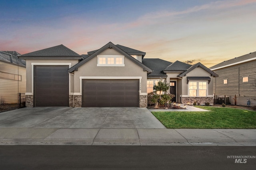
M 82 82 L 83 107 L 139 107 L 139 80 Z

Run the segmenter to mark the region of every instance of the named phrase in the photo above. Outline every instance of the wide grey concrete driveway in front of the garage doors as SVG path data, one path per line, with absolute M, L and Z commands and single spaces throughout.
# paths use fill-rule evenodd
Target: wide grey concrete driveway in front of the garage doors
M 0 113 L 0 127 L 165 128 L 138 107 L 26 107 Z

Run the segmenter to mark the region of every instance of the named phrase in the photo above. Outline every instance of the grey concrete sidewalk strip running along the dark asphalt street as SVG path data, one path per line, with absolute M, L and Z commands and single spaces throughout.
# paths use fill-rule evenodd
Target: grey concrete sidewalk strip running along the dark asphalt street
M 0 145 L 256 146 L 256 129 L 1 128 Z

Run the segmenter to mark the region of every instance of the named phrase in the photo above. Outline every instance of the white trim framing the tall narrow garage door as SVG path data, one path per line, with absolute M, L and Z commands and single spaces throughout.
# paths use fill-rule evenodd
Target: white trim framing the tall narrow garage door
M 25 95 L 34 95 L 34 66 L 66 66 L 68 65 L 71 68 L 72 63 L 31 63 L 31 93 L 26 92 Z M 71 82 L 69 74 L 69 94 L 71 93 Z

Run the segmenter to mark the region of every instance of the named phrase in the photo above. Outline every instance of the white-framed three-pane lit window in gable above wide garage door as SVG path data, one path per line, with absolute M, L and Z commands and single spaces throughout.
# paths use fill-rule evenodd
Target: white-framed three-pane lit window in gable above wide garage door
M 97 66 L 124 66 L 123 55 L 98 55 Z

